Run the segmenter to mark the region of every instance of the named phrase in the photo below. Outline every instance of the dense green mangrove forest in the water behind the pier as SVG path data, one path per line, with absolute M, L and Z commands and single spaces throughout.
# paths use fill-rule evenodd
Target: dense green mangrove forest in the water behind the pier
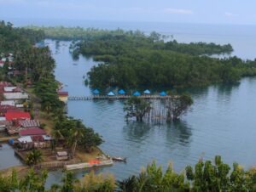
M 102 37 L 74 42 L 71 49 L 74 57 L 92 55 L 95 60 L 103 61 L 88 74 L 93 88 L 201 86 L 236 82 L 241 76 L 256 75 L 256 60 L 203 56 L 230 52 L 230 45 L 164 42 L 154 32 L 150 36 L 107 32 Z

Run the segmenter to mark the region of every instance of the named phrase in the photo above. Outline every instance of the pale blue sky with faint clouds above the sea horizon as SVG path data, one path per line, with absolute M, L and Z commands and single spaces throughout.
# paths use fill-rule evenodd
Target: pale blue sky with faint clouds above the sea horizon
M 0 0 L 0 20 L 113 20 L 256 25 L 255 0 Z

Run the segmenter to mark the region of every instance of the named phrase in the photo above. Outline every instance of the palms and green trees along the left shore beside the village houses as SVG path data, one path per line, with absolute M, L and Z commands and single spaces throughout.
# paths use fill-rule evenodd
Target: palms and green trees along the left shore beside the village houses
M 4 51 L 14 54 L 13 66 L 15 68 L 15 70 L 9 70 L 9 67 L 0 69 L 1 78 L 14 84 L 20 83 L 25 87 L 27 82 L 32 83 L 32 90 L 37 95 L 36 100 L 39 100 L 41 110 L 47 113 L 51 121 L 55 120 L 55 130 L 52 130 L 52 133 L 55 133 L 55 143 L 58 144 L 59 136 L 66 138 L 70 144 L 72 155 L 78 147 L 90 151 L 93 147 L 102 144 L 102 137 L 92 128 L 85 127 L 81 121 L 64 115 L 65 104 L 59 100 L 56 92 L 58 83 L 54 76 L 55 60 L 51 57 L 48 47 L 37 48 L 34 46 L 35 42 L 44 38 L 44 31 L 14 28 L 10 23 L 5 24 L 2 21 L 0 37 L 1 35 L 4 38 L 0 38 L 0 50 L 3 49 L 2 45 L 10 45 Z M 9 78 L 8 72 L 16 74 Z M 52 144 L 53 149 L 54 147 Z M 37 150 L 32 150 L 27 156 L 27 163 L 29 165 L 38 163 L 40 160 L 37 159 L 38 155 Z

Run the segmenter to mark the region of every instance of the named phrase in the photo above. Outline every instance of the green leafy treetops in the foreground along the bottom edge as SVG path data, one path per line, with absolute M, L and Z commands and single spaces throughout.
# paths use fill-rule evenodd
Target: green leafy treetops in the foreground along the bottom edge
M 73 192 L 253 192 L 256 190 L 256 170 L 245 171 L 237 163 L 231 168 L 220 156 L 212 161 L 198 161 L 195 167 L 188 166 L 181 173 L 174 172 L 170 164 L 166 171 L 149 164 L 139 175 L 133 175 L 121 181 L 114 182 L 113 176 L 96 176 L 93 173 L 83 179 L 74 178 L 72 172 L 67 172 L 62 178 L 62 184 L 53 184 L 50 190 L 44 188 L 47 172 L 38 174 L 30 170 L 24 178 L 17 178 L 15 172 L 9 177 L 0 176 L 0 191 L 73 191 Z

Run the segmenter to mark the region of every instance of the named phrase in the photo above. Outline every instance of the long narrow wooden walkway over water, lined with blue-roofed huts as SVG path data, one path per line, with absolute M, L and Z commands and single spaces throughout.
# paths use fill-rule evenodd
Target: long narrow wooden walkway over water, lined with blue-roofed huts
M 106 95 L 95 95 L 95 96 L 69 96 L 68 100 L 121 100 L 121 99 L 129 99 L 133 96 L 131 95 L 115 95 L 115 96 L 106 96 Z M 142 99 L 170 99 L 172 96 L 160 96 L 160 95 L 141 95 L 137 96 Z

